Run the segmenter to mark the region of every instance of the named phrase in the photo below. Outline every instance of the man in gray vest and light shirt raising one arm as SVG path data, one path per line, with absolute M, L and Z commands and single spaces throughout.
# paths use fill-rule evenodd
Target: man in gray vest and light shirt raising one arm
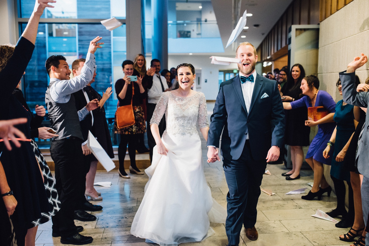
M 86 107 L 77 111 L 73 92 L 85 87 L 93 77 L 95 69 L 95 51 L 102 48 L 98 43 L 100 37 L 94 38 L 86 56 L 86 63 L 80 76 L 70 79 L 70 70 L 66 59 L 50 56 L 45 63 L 50 83 L 45 94 L 45 103 L 49 111 L 51 128 L 55 137 L 50 146 L 50 154 L 55 163 L 55 188 L 61 201 L 61 209 L 52 216 L 52 236 L 61 236 L 64 244 L 84 245 L 93 241 L 90 236 L 80 235 L 82 226 L 74 224 L 76 199 L 79 196 L 80 182 L 83 177 L 82 132 L 79 121 L 91 110 L 99 106 L 98 100 L 90 101 Z

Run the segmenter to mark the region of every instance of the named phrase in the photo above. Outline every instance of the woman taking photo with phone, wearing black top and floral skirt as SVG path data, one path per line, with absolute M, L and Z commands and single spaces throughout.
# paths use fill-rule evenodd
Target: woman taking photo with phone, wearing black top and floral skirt
M 123 79 L 118 79 L 115 82 L 115 92 L 119 101 L 119 107 L 124 105 L 130 105 L 132 100 L 132 108 L 135 117 L 135 124 L 129 127 L 118 128 L 117 122 L 114 122 L 114 133 L 120 134 L 120 143 L 118 146 L 118 158 L 119 158 L 119 176 L 129 179 L 130 176 L 124 170 L 124 158 L 128 146 L 128 155 L 130 156 L 131 166 L 130 173 L 144 174 L 136 166 L 136 146 L 138 144 L 138 134 L 146 132 L 144 111 L 142 110 L 142 100 L 146 98 L 146 90 L 142 86 L 142 76 L 132 76 L 134 63 L 131 60 L 125 60 L 122 63 L 124 72 Z M 136 80 L 137 78 L 137 80 Z M 131 81 L 136 80 L 136 81 Z M 134 94 L 132 95 L 132 92 Z M 133 97 L 132 97 L 133 96 Z

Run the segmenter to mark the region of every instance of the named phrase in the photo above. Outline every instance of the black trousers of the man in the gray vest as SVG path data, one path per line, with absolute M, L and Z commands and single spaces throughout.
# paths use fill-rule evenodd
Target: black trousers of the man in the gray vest
M 59 212 L 52 216 L 52 230 L 60 232 L 62 237 L 77 233 L 74 211 L 79 209 L 81 184 L 86 183 L 81 143 L 81 139 L 61 139 L 52 141 L 50 146 L 55 163 L 55 188 L 61 201 Z

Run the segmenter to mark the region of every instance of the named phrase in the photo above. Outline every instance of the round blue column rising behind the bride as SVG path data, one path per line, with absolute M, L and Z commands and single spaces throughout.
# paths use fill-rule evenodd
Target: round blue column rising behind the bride
M 161 68 L 168 68 L 168 0 L 151 1 L 152 59 L 159 59 Z

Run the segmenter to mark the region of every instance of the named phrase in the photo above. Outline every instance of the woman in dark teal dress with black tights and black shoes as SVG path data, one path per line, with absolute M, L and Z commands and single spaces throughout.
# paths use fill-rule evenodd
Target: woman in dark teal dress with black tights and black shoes
M 360 84 L 359 80 L 356 80 L 356 86 Z M 341 80 L 338 79 L 336 86 L 338 87 L 339 94 L 342 95 Z M 358 108 L 358 107 L 357 107 Z M 336 104 L 334 113 L 334 121 L 337 123 L 336 128 L 327 143 L 327 147 L 323 151 L 324 158 L 329 157 L 331 146 L 334 145 L 334 152 L 331 163 L 331 179 L 334 184 L 334 190 L 337 196 L 337 207 L 330 212 L 327 212 L 332 218 L 342 216 L 341 221 L 336 224 L 338 228 L 348 228 L 354 224 L 355 209 L 354 209 L 354 196 L 350 182 L 350 173 L 344 166 L 344 160 L 348 146 L 351 142 L 352 135 L 354 135 L 357 121 L 354 119 L 354 106 L 345 103 L 343 100 L 338 101 Z M 346 198 L 346 186 L 344 181 L 348 185 L 348 213 L 345 208 Z

